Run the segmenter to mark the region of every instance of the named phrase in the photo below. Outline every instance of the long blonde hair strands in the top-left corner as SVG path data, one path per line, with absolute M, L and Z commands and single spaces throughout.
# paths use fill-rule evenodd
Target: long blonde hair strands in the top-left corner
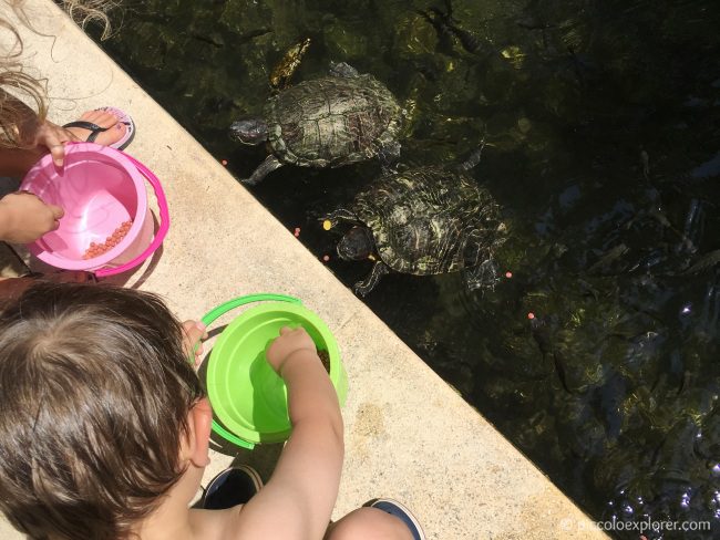
M 31 21 L 23 11 L 25 0 L 4 0 L 17 17 L 30 29 Z M 103 33 L 101 40 L 112 35 L 107 13 L 120 6 L 117 0 L 55 0 L 81 28 L 96 22 Z M 41 124 L 48 114 L 47 80 L 23 71 L 20 58 L 23 50 L 18 30 L 0 18 L 0 32 L 10 34 L 9 45 L 0 52 L 0 148 L 28 148 L 32 141 L 22 137 L 23 126 Z M 3 40 L 3 42 L 6 42 Z M 30 108 L 28 108 L 30 107 Z

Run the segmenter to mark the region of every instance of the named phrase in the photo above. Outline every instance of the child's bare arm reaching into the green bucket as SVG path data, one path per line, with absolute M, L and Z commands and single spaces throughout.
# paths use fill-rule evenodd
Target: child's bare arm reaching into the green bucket
M 305 330 L 282 329 L 267 360 L 287 385 L 292 435 L 272 478 L 237 513 L 232 538 L 318 540 L 330 521 L 342 470 L 338 396 Z

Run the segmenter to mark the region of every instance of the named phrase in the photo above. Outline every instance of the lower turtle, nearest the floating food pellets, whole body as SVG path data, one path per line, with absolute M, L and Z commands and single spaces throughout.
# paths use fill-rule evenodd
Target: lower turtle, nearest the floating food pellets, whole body
M 506 227 L 491 193 L 467 174 L 481 152 L 455 166 L 385 170 L 349 207 L 325 216 L 326 230 L 351 225 L 337 246 L 341 259 L 374 261 L 370 274 L 354 284 L 356 294 L 368 294 L 390 271 L 463 271 L 471 291 L 495 284 L 493 252 L 505 241 Z

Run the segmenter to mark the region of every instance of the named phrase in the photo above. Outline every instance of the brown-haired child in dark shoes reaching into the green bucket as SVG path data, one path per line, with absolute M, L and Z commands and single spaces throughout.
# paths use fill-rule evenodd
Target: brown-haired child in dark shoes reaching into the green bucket
M 18 530 L 53 540 L 424 538 L 388 499 L 328 527 L 342 418 L 301 329 L 282 329 L 267 352 L 287 385 L 292 423 L 272 477 L 255 494 L 256 472 L 234 469 L 254 480 L 245 499 L 237 494 L 246 503 L 189 509 L 212 423 L 186 353 L 203 333 L 183 330 L 154 294 L 105 285 L 37 282 L 3 309 L 0 508 Z M 205 506 L 217 508 L 209 499 L 237 485 L 213 482 Z

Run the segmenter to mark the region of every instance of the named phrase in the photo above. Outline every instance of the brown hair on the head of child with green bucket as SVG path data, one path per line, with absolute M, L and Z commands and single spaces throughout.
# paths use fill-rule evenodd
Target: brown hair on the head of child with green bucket
M 204 395 L 160 297 L 32 285 L 0 313 L 0 510 L 37 540 L 132 538 Z

